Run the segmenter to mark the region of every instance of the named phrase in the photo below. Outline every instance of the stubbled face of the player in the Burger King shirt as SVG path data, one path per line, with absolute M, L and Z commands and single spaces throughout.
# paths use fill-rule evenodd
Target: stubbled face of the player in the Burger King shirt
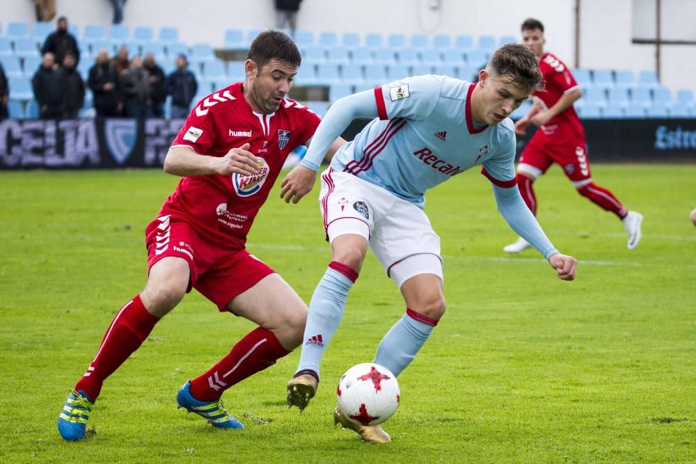
M 249 82 L 251 104 L 261 113 L 278 110 L 283 98 L 290 92 L 297 67 L 284 61 L 271 59 L 259 68 L 251 60 L 246 61 L 246 77 Z

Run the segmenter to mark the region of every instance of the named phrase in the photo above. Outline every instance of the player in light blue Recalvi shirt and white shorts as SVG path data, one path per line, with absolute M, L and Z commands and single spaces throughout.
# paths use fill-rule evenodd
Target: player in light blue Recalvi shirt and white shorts
M 537 60 L 522 45 L 505 45 L 479 78 L 474 84 L 411 77 L 340 99 L 317 128 L 301 166 L 283 179 L 280 195 L 299 201 L 351 120 L 375 118 L 322 173 L 319 201 L 333 259 L 310 303 L 299 366 L 287 384 L 289 406 L 305 408 L 317 390 L 319 362 L 368 246 L 406 303 L 406 314 L 383 337 L 374 362 L 398 376 L 413 360 L 445 312 L 440 239 L 422 209 L 425 192 L 469 168 L 482 165 L 510 227 L 561 279 L 574 279 L 576 260 L 553 247 L 515 182 L 515 136 L 507 116 L 539 84 Z M 365 441 L 390 441 L 381 427 L 357 426 L 338 408 L 334 419 Z

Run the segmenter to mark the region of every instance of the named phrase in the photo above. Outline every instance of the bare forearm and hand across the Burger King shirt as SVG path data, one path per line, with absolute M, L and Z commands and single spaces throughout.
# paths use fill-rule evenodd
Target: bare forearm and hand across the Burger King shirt
M 224 157 L 198 154 L 190 147 L 171 147 L 164 159 L 164 172 L 182 177 L 193 175 L 253 175 L 258 173 L 258 159 L 248 151 L 249 144 L 232 148 Z

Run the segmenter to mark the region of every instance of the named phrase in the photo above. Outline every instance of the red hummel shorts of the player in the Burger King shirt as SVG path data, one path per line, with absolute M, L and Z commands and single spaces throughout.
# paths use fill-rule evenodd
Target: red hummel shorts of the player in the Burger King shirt
M 152 265 L 167 256 L 189 263 L 189 288 L 200 291 L 219 310 L 228 311 L 232 298 L 256 285 L 275 271 L 246 250 L 223 250 L 210 245 L 188 223 L 160 216 L 145 228 L 148 273 Z

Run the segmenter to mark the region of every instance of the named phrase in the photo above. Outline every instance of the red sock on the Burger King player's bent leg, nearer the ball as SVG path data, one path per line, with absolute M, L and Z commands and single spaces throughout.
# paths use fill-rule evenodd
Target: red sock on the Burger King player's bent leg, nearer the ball
M 290 353 L 276 335 L 256 328 L 232 347 L 232 351 L 205 374 L 191 381 L 191 396 L 198 401 L 215 401 L 222 392 L 274 364 Z

